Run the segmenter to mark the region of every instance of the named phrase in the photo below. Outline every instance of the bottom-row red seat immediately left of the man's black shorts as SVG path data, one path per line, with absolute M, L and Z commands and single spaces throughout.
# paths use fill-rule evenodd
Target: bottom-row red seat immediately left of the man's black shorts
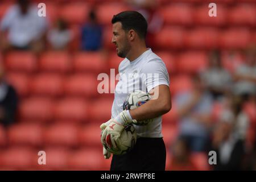
M 101 170 L 104 164 L 102 148 L 82 148 L 72 152 L 69 158 L 69 169 L 72 170 Z

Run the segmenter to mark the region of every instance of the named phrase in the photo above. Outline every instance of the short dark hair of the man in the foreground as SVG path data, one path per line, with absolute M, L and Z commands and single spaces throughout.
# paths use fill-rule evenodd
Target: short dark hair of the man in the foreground
M 122 23 L 125 31 L 135 30 L 140 38 L 145 39 L 147 34 L 147 20 L 137 11 L 122 11 L 112 18 L 112 24 L 116 22 Z

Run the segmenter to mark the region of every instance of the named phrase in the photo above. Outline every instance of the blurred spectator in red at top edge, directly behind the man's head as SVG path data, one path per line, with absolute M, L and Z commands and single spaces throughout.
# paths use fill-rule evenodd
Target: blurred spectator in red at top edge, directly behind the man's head
M 135 11 L 141 13 L 147 20 L 147 47 L 154 48 L 155 38 L 163 27 L 163 18 L 158 14 L 157 0 L 125 0 Z

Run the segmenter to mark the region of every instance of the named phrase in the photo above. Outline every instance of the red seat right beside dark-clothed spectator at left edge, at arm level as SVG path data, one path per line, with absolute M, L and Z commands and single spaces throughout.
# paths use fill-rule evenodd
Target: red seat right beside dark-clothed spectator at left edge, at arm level
M 50 121 L 53 117 L 53 102 L 49 98 L 28 98 L 19 106 L 23 121 Z

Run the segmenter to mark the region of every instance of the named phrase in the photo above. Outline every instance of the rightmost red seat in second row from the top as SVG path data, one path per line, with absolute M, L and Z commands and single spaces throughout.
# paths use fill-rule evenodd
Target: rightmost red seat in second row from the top
M 246 48 L 250 39 L 250 31 L 247 28 L 233 28 L 222 33 L 219 44 L 226 49 Z

